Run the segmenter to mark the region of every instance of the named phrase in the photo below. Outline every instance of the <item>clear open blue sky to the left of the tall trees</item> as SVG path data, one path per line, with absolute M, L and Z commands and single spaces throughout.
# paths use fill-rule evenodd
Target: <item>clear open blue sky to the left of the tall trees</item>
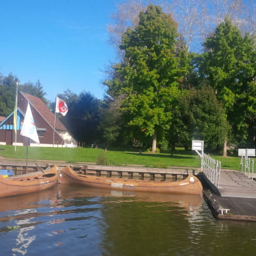
M 104 70 L 116 62 L 107 24 L 118 0 L 1 0 L 0 73 L 40 80 L 46 98 L 71 89 L 102 99 Z

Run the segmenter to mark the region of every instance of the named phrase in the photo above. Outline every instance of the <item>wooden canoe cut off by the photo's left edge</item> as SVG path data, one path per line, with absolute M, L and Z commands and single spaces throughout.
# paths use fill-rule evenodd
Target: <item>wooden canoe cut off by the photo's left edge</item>
M 48 171 L 4 178 L 0 175 L 0 197 L 23 195 L 49 189 L 57 184 L 57 166 Z

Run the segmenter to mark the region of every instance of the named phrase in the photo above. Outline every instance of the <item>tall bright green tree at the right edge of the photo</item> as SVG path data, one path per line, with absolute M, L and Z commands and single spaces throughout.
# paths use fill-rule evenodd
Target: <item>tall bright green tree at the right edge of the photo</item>
M 253 97 L 252 84 L 256 71 L 254 41 L 248 34 L 242 37 L 239 29 L 225 19 L 206 39 L 204 48 L 201 77 L 215 89 L 217 99 L 223 103 L 232 136 L 239 141 L 246 140 L 248 111 L 252 111 L 249 97 Z

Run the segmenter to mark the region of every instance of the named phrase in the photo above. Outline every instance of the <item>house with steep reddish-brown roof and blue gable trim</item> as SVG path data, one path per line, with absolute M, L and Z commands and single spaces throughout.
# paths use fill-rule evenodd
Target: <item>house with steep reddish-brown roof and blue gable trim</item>
M 37 134 L 39 135 L 40 144 L 36 144 L 33 140 L 27 140 L 26 137 L 20 135 L 22 129 L 27 103 L 30 104 L 31 112 Z M 17 146 L 74 146 L 76 140 L 67 131 L 67 128 L 54 113 L 43 103 L 43 101 L 33 95 L 20 91 L 18 95 L 18 110 L 17 110 L 17 134 L 14 131 L 14 112 L 7 118 L 0 120 L 0 144 Z

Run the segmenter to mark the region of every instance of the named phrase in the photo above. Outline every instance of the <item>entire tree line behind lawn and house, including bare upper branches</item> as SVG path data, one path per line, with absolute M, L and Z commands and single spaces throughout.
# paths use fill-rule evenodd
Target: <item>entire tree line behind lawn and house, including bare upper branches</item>
M 204 140 L 211 152 L 221 152 L 227 142 L 256 146 L 253 12 L 245 16 L 242 1 L 217 1 L 210 20 L 211 1 L 200 1 L 146 6 L 149 1 L 130 0 L 119 6 L 110 27 L 119 59 L 108 69 L 104 99 L 70 89 L 58 95 L 69 106 L 59 118 L 79 142 L 151 146 L 152 152 L 164 145 L 189 149 L 193 139 Z M 199 34 L 202 52 L 195 42 Z M 12 74 L 0 76 L 1 116 L 14 109 L 17 81 Z M 19 89 L 47 103 L 39 81 Z M 55 103 L 50 105 L 54 112 Z

